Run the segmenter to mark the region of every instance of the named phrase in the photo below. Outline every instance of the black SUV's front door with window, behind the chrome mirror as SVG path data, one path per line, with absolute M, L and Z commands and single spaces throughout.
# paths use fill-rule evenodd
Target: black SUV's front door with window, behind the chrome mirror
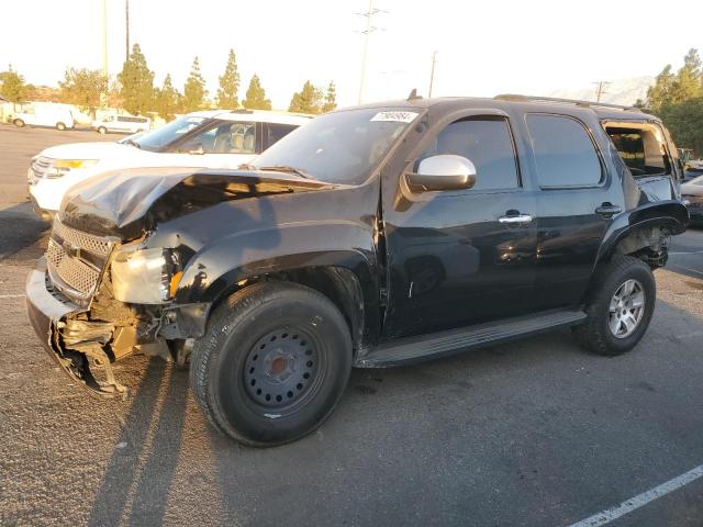
M 384 338 L 521 315 L 535 304 L 536 197 L 521 175 L 509 116 L 469 114 L 438 127 L 406 170 L 431 156 L 461 156 L 476 167 L 476 183 L 417 193 L 401 176 L 404 199 L 383 211 Z

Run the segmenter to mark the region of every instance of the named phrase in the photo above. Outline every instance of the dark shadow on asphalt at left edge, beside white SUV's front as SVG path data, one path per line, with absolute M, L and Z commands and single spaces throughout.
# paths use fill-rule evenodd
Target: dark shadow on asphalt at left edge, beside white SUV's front
M 44 246 L 37 242 L 48 228 L 49 225 L 34 214 L 29 203 L 0 209 L 0 261 L 20 254 L 26 259 L 40 258 Z

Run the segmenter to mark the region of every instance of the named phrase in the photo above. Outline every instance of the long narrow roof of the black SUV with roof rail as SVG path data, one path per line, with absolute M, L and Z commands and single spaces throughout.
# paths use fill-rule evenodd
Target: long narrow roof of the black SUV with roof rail
M 659 117 L 641 111 L 635 106 L 622 106 L 617 104 L 598 103 L 593 101 L 579 101 L 573 99 L 555 99 L 546 97 L 529 96 L 496 96 L 494 98 L 476 97 L 440 97 L 433 99 L 409 98 L 400 101 L 386 101 L 365 104 L 365 108 L 415 108 L 427 109 L 443 106 L 447 111 L 467 108 L 470 104 L 475 108 L 507 109 L 518 108 L 522 111 L 538 111 L 554 113 L 573 113 L 582 111 L 593 111 L 602 120 L 613 121 L 657 121 Z M 349 110 L 349 109 L 347 109 Z

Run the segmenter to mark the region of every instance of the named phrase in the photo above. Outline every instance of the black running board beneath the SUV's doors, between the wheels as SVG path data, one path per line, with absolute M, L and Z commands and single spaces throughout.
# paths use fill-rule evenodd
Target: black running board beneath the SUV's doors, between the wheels
M 583 311 L 546 311 L 476 326 L 432 333 L 419 337 L 405 337 L 372 348 L 356 360 L 357 368 L 387 368 L 422 362 L 458 351 L 505 343 L 516 338 L 573 326 L 585 321 Z

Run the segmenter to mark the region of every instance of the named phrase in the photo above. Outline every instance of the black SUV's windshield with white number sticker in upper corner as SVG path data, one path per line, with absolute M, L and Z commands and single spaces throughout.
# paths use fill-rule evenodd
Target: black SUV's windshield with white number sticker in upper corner
M 417 114 L 378 108 L 327 113 L 291 132 L 253 162 L 257 168 L 292 167 L 320 181 L 360 184 Z

